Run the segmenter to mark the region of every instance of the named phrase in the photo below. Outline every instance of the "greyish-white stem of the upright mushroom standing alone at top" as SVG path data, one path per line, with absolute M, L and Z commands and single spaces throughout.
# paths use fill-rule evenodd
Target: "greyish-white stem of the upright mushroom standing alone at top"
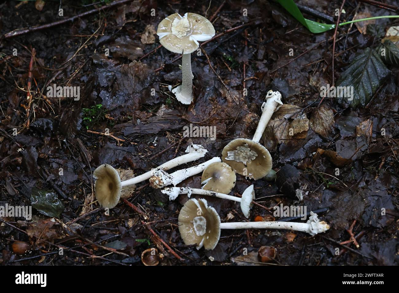
M 193 73 L 191 71 L 191 53 L 182 57 L 182 85 L 174 88 L 172 92 L 182 104 L 191 104 L 193 100 Z

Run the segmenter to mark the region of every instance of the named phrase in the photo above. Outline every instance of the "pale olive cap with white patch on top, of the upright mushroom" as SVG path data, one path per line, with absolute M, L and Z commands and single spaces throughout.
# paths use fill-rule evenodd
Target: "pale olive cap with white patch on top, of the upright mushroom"
M 169 51 L 189 54 L 199 47 L 199 41 L 207 41 L 215 35 L 215 29 L 205 17 L 186 13 L 174 13 L 162 20 L 156 31 L 159 41 Z

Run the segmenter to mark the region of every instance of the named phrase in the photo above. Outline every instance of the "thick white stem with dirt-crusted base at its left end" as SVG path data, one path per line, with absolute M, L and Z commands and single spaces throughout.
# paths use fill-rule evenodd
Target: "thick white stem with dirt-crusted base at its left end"
M 162 188 L 170 184 L 176 186 L 184 179 L 187 179 L 188 177 L 201 173 L 211 163 L 220 162 L 220 161 L 221 159 L 219 157 L 213 157 L 212 159 L 204 163 L 201 163 L 194 167 L 181 169 L 171 174 L 166 172 L 164 169 L 157 169 L 154 172 L 153 176 L 150 178 L 150 184 L 153 188 Z

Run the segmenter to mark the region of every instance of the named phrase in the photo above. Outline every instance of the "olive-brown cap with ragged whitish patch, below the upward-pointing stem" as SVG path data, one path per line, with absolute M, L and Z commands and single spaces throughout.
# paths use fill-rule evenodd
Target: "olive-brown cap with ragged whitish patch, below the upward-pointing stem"
M 223 148 L 222 161 L 237 173 L 255 180 L 265 177 L 273 165 L 267 148 L 247 138 L 237 138 L 229 142 Z

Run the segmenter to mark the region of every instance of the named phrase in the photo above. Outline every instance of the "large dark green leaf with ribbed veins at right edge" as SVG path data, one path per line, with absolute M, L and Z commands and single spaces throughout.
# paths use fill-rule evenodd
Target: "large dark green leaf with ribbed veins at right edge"
M 337 100 L 344 106 L 365 106 L 375 92 L 391 73 L 382 62 L 379 55 L 372 49 L 366 48 L 363 53 L 354 58 L 348 68 L 337 81 Z M 338 87 L 353 90 L 353 96 L 342 95 Z

